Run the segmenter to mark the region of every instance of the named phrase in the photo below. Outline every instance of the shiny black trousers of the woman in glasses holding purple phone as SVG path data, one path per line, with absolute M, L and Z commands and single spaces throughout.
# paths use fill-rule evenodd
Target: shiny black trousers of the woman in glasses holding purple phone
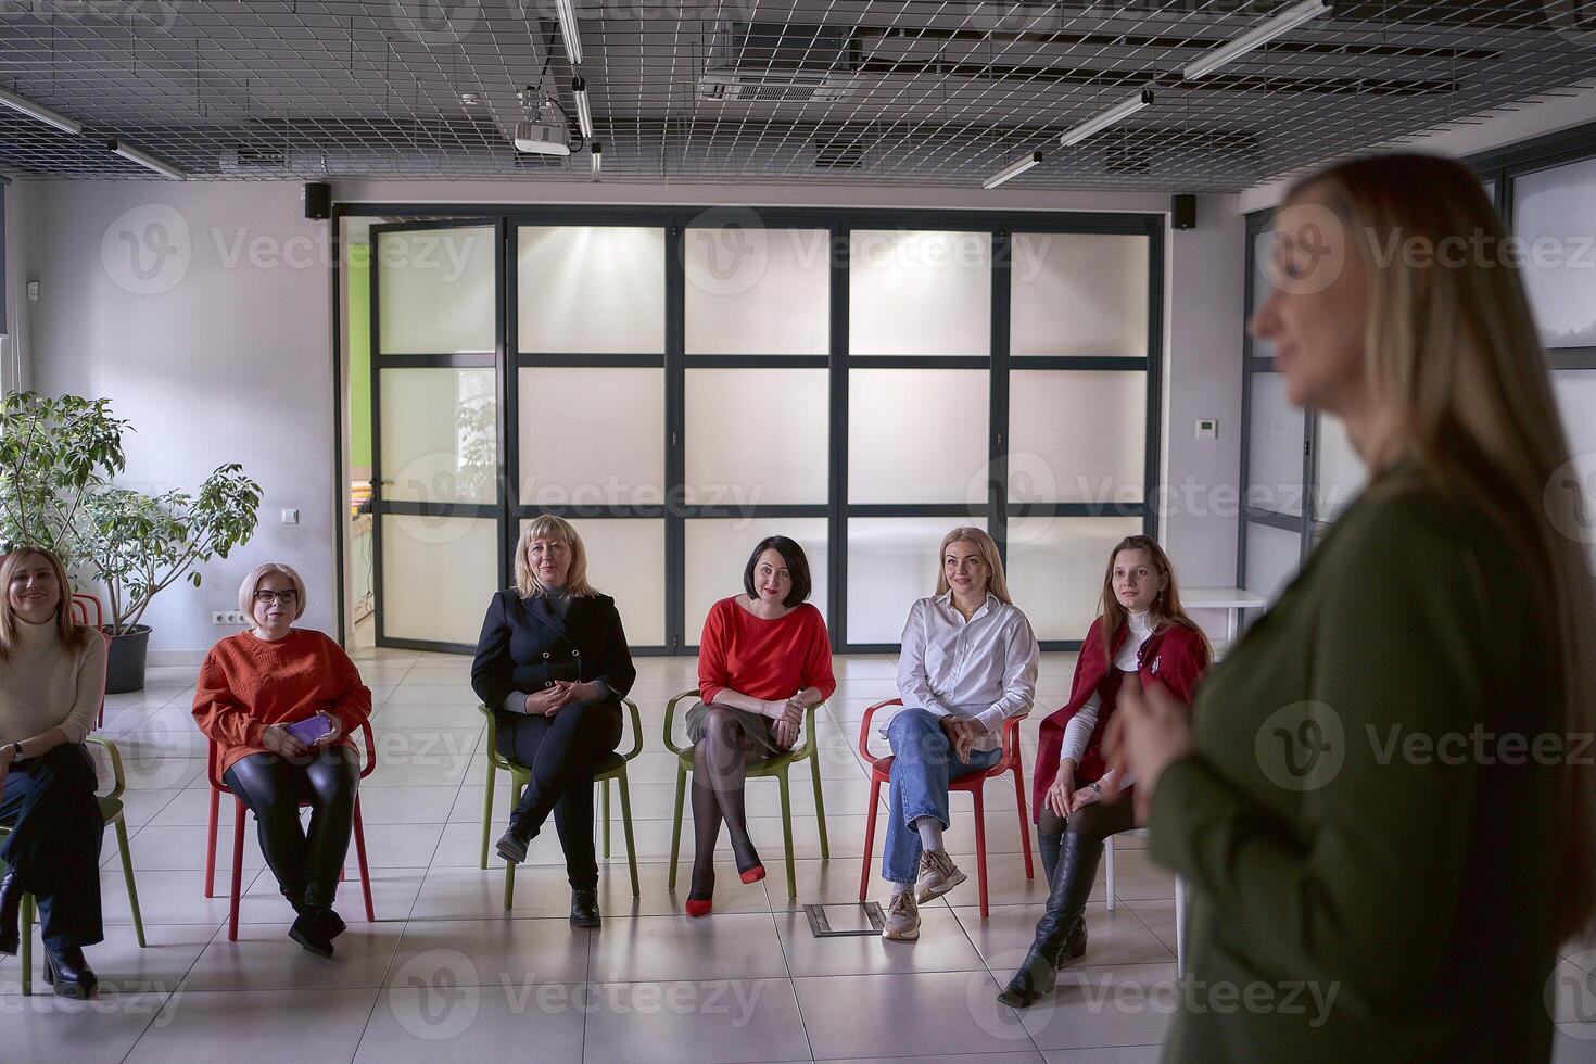
M 348 747 L 318 750 L 308 764 L 275 753 L 252 753 L 227 770 L 227 785 L 255 814 L 260 852 L 282 897 L 300 904 L 332 904 L 338 871 L 354 828 L 359 755 Z M 310 804 L 310 831 L 300 825 Z

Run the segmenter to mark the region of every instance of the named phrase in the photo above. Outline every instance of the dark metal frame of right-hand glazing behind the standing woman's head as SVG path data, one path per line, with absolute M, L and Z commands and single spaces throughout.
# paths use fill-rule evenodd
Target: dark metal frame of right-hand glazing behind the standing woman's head
M 1508 231 L 1513 230 L 1513 207 L 1515 207 L 1515 182 L 1527 174 L 1539 174 L 1548 169 L 1556 169 L 1559 166 L 1567 166 L 1570 163 L 1585 163 L 1596 160 L 1596 123 L 1585 126 L 1577 126 L 1574 129 L 1564 129 L 1559 132 L 1547 134 L 1543 137 L 1534 137 L 1531 140 L 1521 140 L 1518 144 L 1510 144 L 1502 148 L 1491 152 L 1483 152 L 1462 160 L 1481 182 L 1491 182 L 1495 196 L 1495 207 L 1507 222 Z M 1285 531 L 1294 531 L 1301 536 L 1301 552 L 1298 563 L 1307 560 L 1314 546 L 1329 531 L 1331 522 L 1320 520 L 1320 514 L 1315 512 L 1315 491 L 1318 487 L 1318 477 L 1315 471 L 1315 455 L 1318 453 L 1320 442 L 1320 415 L 1317 412 L 1306 412 L 1304 416 L 1304 432 L 1302 432 L 1302 515 L 1293 517 L 1288 514 L 1275 514 L 1270 510 L 1261 510 L 1256 507 L 1245 506 L 1246 485 L 1251 479 L 1251 394 L 1253 394 L 1253 375 L 1254 373 L 1272 373 L 1274 364 L 1270 359 L 1256 357 L 1253 354 L 1253 337 L 1245 329 L 1245 322 L 1253 316 L 1253 278 L 1256 276 L 1254 249 L 1256 236 L 1269 228 L 1274 217 L 1274 209 L 1266 207 L 1262 211 L 1254 211 L 1246 215 L 1246 287 L 1245 287 L 1245 316 L 1242 330 L 1242 359 L 1245 372 L 1242 373 L 1242 498 L 1243 507 L 1238 518 L 1238 534 L 1237 534 L 1237 560 L 1235 573 L 1237 584 L 1246 585 L 1246 530 L 1250 523 L 1269 525 L 1272 528 L 1280 528 Z M 1596 346 L 1580 346 L 1580 348 L 1548 348 L 1547 362 L 1553 372 L 1558 370 L 1596 370 Z

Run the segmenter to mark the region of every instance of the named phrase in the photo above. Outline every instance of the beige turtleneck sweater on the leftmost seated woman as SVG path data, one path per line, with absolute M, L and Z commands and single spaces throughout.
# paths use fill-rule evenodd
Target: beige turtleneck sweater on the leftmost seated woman
M 88 649 L 61 644 L 56 622 L 16 617 L 16 646 L 0 659 L 0 745 L 61 727 L 80 743 L 94 731 L 105 697 L 105 640 L 94 633 Z

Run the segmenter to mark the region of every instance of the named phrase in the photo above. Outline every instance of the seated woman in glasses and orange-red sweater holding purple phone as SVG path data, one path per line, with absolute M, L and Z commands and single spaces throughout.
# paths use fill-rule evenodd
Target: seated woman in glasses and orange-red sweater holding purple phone
M 286 565 L 257 566 L 238 589 L 251 629 L 211 648 L 200 667 L 195 719 L 215 743 L 217 769 L 255 814 L 260 850 L 298 917 L 289 938 L 332 956 L 343 920 L 332 911 L 350 849 L 359 755 L 350 742 L 372 713 L 372 691 L 337 643 L 294 622 L 305 581 Z M 321 718 L 308 745 L 286 726 Z M 310 802 L 310 833 L 300 826 Z

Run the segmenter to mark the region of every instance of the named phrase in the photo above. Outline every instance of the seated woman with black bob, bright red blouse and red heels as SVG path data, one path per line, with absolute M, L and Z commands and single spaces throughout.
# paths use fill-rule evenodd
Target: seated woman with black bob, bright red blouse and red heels
M 771 536 L 749 555 L 747 593 L 723 598 L 699 638 L 699 697 L 688 710 L 693 740 L 693 887 L 688 916 L 704 916 L 715 893 L 720 823 L 742 882 L 764 879 L 749 839 L 742 785 L 747 766 L 792 750 L 811 705 L 832 697 L 832 640 L 809 605 L 809 560 L 787 536 Z

